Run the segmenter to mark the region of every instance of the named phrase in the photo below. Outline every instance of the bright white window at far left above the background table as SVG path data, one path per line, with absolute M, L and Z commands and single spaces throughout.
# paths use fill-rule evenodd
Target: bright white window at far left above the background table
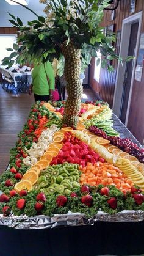
M 16 43 L 16 35 L 0 35 L 0 65 L 4 57 L 10 56 L 10 51 L 7 51 L 7 48 L 13 48 L 13 43 Z

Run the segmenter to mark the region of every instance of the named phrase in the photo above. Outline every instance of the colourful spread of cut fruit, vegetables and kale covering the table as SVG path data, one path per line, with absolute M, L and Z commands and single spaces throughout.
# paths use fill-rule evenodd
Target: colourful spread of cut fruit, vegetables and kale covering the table
M 63 124 L 63 108 L 64 101 L 32 106 L 0 177 L 0 213 L 144 211 L 143 148 L 113 129 L 106 103 L 81 103 L 76 127 Z

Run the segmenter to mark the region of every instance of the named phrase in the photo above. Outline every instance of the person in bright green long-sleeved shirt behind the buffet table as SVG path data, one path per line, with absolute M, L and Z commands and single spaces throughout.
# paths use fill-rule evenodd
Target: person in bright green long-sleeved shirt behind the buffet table
M 32 70 L 32 84 L 29 87 L 29 94 L 34 92 L 35 102 L 52 100 L 55 78 L 51 62 L 38 64 Z

